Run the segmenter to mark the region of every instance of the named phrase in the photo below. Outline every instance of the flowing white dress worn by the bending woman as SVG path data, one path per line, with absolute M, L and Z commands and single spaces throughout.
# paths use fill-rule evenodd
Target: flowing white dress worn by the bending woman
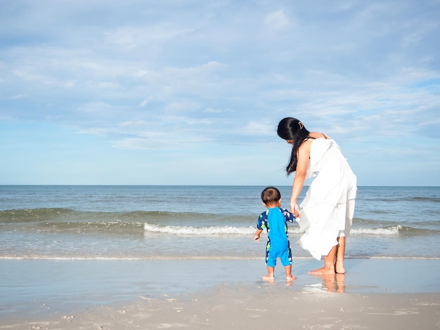
M 347 159 L 330 138 L 311 143 L 307 178 L 313 176 L 316 178 L 299 206 L 297 222 L 304 235 L 297 244 L 320 260 L 337 245 L 337 237 L 349 235 L 357 187 Z

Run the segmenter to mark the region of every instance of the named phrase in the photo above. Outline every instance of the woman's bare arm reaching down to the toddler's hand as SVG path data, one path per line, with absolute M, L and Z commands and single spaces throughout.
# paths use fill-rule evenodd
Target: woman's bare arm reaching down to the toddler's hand
M 290 197 L 290 212 L 292 212 L 295 217 L 301 217 L 297 200 L 299 194 L 301 193 L 302 187 L 304 186 L 304 181 L 306 180 L 307 166 L 309 166 L 310 160 L 311 143 L 311 140 L 306 140 L 298 148 L 297 170 L 295 171 L 295 178 L 293 179 L 292 185 L 292 195 Z

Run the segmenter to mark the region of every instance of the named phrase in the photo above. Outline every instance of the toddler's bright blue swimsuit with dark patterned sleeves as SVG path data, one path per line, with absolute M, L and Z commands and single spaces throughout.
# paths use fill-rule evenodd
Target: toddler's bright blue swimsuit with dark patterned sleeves
M 292 250 L 287 238 L 287 222 L 295 223 L 295 216 L 286 209 L 274 207 L 260 214 L 257 221 L 259 230 L 267 230 L 266 265 L 275 267 L 276 258 L 283 266 L 292 265 Z

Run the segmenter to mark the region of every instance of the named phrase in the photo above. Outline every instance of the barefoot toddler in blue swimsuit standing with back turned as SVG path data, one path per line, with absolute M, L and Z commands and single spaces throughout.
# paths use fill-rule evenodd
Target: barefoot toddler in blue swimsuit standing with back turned
M 261 192 L 263 205 L 267 210 L 261 213 L 257 220 L 257 231 L 254 241 L 258 242 L 261 232 L 267 230 L 266 265 L 268 274 L 264 280 L 275 279 L 276 259 L 280 258 L 285 268 L 287 280 L 293 281 L 292 276 L 292 251 L 287 238 L 287 222 L 295 223 L 295 216 L 286 209 L 281 209 L 281 193 L 276 187 L 267 187 Z

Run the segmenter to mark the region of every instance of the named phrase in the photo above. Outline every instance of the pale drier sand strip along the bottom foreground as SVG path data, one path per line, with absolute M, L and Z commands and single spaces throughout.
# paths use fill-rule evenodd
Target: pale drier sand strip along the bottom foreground
M 0 329 L 439 329 L 440 295 L 292 292 L 221 286 L 189 300 L 145 299 Z

